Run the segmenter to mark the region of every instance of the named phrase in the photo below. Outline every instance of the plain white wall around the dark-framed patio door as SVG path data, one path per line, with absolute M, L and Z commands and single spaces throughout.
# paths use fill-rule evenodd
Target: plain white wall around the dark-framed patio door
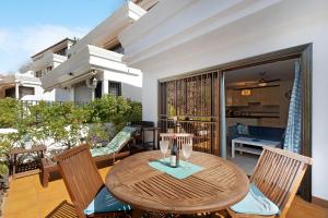
M 215 4 L 215 2 L 209 0 L 197 1 L 197 3 L 200 2 Z M 161 8 L 160 4 L 155 8 Z M 147 15 L 151 16 L 150 13 L 156 13 L 155 8 Z M 191 10 L 190 8 L 188 10 Z M 141 51 L 139 58 L 133 59 L 132 55 L 138 52 L 138 45 L 139 48 L 147 47 L 147 40 L 142 40 L 142 35 L 140 35 L 141 39 L 136 36 L 134 43 L 138 44 L 137 46 L 133 45 L 133 41 L 128 41 L 131 45 L 131 56 L 129 56 L 129 44 L 126 44 L 127 57 L 129 57 L 126 60 L 128 63 L 132 63 L 131 66 L 139 68 L 143 72 L 143 119 L 157 120 L 159 78 L 313 43 L 313 195 L 328 199 L 328 170 L 326 169 L 328 165 L 326 136 L 328 101 L 325 100 L 328 80 L 327 9 L 328 1 L 325 0 L 281 1 L 253 15 L 219 26 L 203 35 L 198 34 L 197 37 L 190 40 L 183 40 L 183 35 L 177 33 L 176 36 L 171 36 L 171 38 L 161 41 L 159 48 L 161 47 L 162 51 L 156 52 L 155 46 L 149 48 L 153 56 L 149 53 L 147 57 L 144 55 L 143 59 Z M 178 15 L 172 16 L 173 19 L 179 17 L 174 25 L 162 21 L 159 24 L 159 28 L 161 28 L 159 32 L 156 32 L 157 27 L 151 29 L 151 34 L 154 36 L 153 40 L 156 40 L 156 37 L 161 38 L 161 33 L 173 33 L 177 31 L 176 28 L 190 25 L 191 20 L 183 16 L 186 10 L 181 10 Z M 201 16 L 206 13 L 206 10 L 198 11 L 197 8 L 194 9 L 195 16 Z M 147 15 L 140 22 L 147 23 Z M 212 22 L 212 25 L 214 25 L 215 19 L 218 16 L 213 16 L 208 22 Z M 138 25 L 138 22 L 136 24 Z M 188 32 L 189 36 L 200 32 L 203 26 L 203 23 L 195 23 L 194 29 Z M 141 28 L 141 26 L 138 26 L 138 29 Z M 157 35 L 155 35 L 156 33 Z M 121 37 L 121 39 L 124 38 L 125 36 Z M 175 38 L 183 43 L 178 44 Z

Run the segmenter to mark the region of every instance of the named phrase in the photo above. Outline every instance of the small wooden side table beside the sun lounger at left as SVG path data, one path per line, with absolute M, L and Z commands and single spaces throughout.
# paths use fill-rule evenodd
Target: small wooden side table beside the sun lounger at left
M 30 174 L 35 174 L 38 173 L 40 170 L 40 159 L 44 157 L 44 153 L 46 152 L 46 146 L 44 145 L 37 145 L 33 146 L 30 149 L 25 149 L 22 147 L 15 147 L 10 150 L 9 156 L 10 156 L 10 162 L 12 165 L 12 177 L 13 178 L 20 178 L 20 177 L 25 177 Z M 38 160 L 35 162 L 30 162 L 30 164 L 24 164 L 22 166 L 19 166 L 17 164 L 17 156 L 23 155 L 23 154 L 36 154 L 38 157 Z M 19 167 L 23 168 L 22 171 L 17 172 Z

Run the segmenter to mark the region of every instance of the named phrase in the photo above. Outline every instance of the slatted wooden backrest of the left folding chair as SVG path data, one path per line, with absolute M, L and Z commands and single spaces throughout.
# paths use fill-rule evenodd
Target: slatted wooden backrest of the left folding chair
M 65 185 L 79 217 L 104 185 L 87 144 L 71 148 L 55 157 Z

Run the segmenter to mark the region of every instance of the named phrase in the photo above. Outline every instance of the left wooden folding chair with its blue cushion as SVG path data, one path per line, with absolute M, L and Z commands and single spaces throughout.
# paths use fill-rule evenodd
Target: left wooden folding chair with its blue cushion
M 79 218 L 125 215 L 131 207 L 116 199 L 104 185 L 87 144 L 55 157 Z

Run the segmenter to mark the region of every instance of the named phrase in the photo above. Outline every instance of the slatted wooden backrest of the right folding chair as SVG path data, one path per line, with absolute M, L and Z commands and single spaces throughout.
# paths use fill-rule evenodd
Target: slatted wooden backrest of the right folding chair
M 280 148 L 263 146 L 250 182 L 274 204 L 284 217 L 312 158 Z

